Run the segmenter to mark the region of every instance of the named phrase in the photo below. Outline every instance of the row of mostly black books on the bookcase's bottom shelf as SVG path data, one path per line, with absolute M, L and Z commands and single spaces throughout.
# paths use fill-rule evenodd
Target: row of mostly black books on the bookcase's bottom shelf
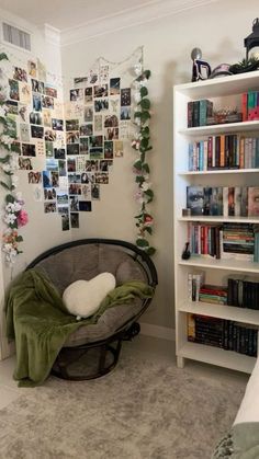
M 258 330 L 232 320 L 189 313 L 188 341 L 257 357 Z

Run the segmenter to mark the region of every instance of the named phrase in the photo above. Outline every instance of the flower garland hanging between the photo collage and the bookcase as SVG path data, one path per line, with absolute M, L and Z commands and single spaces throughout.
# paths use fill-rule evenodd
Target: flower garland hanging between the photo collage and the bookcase
M 150 246 L 146 239 L 146 233 L 153 234 L 154 218 L 147 211 L 147 205 L 154 199 L 154 192 L 149 182 L 149 165 L 146 161 L 146 152 L 151 150 L 149 145 L 150 130 L 150 101 L 147 97 L 147 81 L 151 74 L 150 70 L 143 70 L 142 62 L 134 67 L 137 78 L 134 81 L 134 100 L 136 106 L 134 110 L 134 121 L 137 126 L 135 137 L 132 140 L 132 148 L 138 153 L 137 159 L 133 164 L 133 171 L 136 174 L 135 182 L 137 183 L 136 200 L 140 205 L 138 215 L 135 216 L 137 227 L 136 245 L 144 250 L 148 255 L 153 255 L 156 249 Z

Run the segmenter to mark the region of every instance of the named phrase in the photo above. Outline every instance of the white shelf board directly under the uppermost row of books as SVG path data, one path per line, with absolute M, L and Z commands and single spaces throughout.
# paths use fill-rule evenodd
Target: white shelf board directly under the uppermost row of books
M 217 133 L 243 133 L 255 131 L 258 129 L 259 121 L 252 121 L 241 123 L 213 124 L 211 126 L 187 127 L 183 129 L 179 129 L 178 134 L 184 134 L 185 136 L 212 136 L 213 134 Z

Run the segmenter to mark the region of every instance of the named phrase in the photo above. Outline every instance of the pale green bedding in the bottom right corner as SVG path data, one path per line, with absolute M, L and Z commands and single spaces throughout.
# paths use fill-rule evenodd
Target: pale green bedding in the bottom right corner
M 211 459 L 258 459 L 259 423 L 240 423 L 219 440 Z

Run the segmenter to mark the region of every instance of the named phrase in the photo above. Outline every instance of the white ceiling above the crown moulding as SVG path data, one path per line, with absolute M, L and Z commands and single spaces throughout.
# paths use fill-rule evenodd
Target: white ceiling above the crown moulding
M 170 0 L 172 3 L 179 0 Z M 37 26 L 45 23 L 61 32 L 104 18 L 162 3 L 164 0 L 0 0 L 0 8 Z

